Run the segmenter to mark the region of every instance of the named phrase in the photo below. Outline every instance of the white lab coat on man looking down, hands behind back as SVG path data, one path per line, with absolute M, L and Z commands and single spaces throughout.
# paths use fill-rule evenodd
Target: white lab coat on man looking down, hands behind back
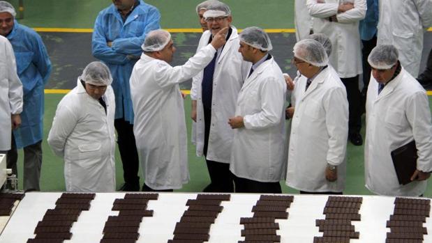
M 48 143 L 64 157 L 66 191 L 115 191 L 115 100 L 111 86 L 103 95 L 107 111 L 87 94 L 80 79 L 57 106 Z

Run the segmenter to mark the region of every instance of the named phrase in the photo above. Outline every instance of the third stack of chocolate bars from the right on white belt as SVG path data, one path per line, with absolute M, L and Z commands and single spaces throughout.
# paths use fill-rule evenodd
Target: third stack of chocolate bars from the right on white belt
M 279 224 L 276 219 L 288 219 L 288 208 L 294 196 L 261 195 L 255 206 L 252 207 L 253 217 L 241 218 L 244 225 L 241 236 L 247 242 L 273 243 L 281 242 L 281 235 L 276 233 Z

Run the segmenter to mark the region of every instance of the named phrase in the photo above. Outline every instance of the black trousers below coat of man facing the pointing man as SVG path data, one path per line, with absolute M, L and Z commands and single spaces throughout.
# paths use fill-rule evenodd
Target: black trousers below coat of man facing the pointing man
M 281 184 L 279 182 L 258 182 L 256 180 L 249 180 L 246 178 L 234 177 L 235 192 L 246 193 L 267 193 L 267 194 L 281 194 Z

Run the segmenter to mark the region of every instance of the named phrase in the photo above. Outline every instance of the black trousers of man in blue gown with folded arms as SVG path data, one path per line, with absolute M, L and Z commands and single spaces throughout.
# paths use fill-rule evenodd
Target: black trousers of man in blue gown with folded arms
M 119 118 L 114 120 L 114 127 L 117 130 L 117 144 L 119 145 L 121 163 L 123 164 L 124 182 L 139 191 L 140 178 L 138 177 L 138 169 L 140 168 L 140 162 L 135 136 L 133 135 L 133 124 L 124 120 L 124 118 Z

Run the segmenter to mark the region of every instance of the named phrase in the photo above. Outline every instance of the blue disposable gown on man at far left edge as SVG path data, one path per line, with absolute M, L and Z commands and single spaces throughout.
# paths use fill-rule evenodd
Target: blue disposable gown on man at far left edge
M 50 77 L 51 61 L 38 33 L 16 20 L 6 38 L 12 44 L 24 91 L 22 124 L 13 131 L 17 148 L 24 148 L 43 138 L 43 88 Z

